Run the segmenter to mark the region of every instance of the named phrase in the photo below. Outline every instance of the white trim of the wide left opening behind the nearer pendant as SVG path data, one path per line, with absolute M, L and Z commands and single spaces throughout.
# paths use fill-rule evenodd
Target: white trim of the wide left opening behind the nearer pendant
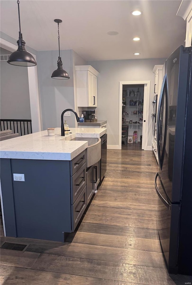
M 0 38 L 1 48 L 8 51 L 16 51 L 18 46 L 10 43 L 9 41 Z M 31 53 L 32 54 L 32 53 Z M 32 54 L 36 60 L 36 55 Z M 37 60 L 36 60 L 37 61 Z M 40 102 L 39 102 L 39 91 L 38 91 L 38 76 L 37 66 L 28 67 L 28 80 L 29 80 L 29 98 L 31 108 L 31 120 L 32 120 L 32 131 L 33 133 L 41 131 L 41 115 L 40 115 Z

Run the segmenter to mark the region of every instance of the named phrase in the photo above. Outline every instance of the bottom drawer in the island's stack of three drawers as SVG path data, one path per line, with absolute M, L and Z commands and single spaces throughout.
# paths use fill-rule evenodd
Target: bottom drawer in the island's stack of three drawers
M 73 205 L 71 205 L 71 226 L 72 231 L 75 230 L 79 220 L 82 217 L 82 214 L 84 213 L 86 207 L 87 207 L 87 197 L 86 197 L 86 186 L 82 190 L 81 194 L 75 201 Z

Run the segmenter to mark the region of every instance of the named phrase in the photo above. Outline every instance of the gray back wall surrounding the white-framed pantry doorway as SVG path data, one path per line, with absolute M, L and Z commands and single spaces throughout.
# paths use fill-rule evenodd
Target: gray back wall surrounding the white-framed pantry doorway
M 107 120 L 107 144 L 119 144 L 119 81 L 150 80 L 150 103 L 154 98 L 154 65 L 163 64 L 166 59 L 104 60 L 88 62 L 98 75 L 98 120 Z M 149 114 L 152 113 L 149 105 Z M 152 119 L 149 115 L 148 146 L 152 144 Z

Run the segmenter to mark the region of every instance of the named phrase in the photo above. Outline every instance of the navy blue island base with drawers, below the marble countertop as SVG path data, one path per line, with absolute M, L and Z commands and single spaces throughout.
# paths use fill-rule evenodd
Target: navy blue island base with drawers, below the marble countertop
M 72 161 L 1 158 L 0 167 L 6 236 L 64 242 L 87 206 L 85 151 Z

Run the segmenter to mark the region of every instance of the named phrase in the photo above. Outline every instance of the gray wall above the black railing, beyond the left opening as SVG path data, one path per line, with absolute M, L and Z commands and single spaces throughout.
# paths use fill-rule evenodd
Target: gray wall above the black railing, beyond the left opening
M 0 74 L 1 119 L 31 119 L 27 67 L 1 61 Z

